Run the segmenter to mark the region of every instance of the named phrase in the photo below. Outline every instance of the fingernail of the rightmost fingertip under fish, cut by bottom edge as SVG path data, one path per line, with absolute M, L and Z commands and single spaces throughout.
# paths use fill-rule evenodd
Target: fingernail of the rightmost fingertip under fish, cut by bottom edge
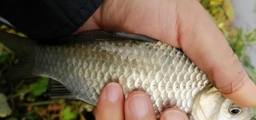
M 185 120 L 183 113 L 178 110 L 166 111 L 162 117 L 162 120 Z

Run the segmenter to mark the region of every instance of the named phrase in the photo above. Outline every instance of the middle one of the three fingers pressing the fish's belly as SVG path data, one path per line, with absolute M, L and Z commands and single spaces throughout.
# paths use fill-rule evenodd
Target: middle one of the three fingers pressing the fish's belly
M 126 120 L 156 120 L 149 96 L 142 91 L 130 93 L 125 100 Z

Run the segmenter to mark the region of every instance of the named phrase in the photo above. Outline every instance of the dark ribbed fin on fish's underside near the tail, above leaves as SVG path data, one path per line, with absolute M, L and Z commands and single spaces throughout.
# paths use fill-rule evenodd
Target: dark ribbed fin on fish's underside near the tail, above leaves
M 44 94 L 50 98 L 76 99 L 70 90 L 52 78 L 49 78 L 48 87 Z

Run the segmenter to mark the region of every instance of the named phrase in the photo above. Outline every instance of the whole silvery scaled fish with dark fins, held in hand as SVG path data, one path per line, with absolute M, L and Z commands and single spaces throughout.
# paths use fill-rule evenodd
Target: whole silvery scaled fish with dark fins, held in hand
M 190 120 L 249 120 L 252 108 L 224 97 L 182 49 L 145 35 L 88 30 L 52 41 L 0 33 L 18 62 L 6 80 L 49 77 L 45 94 L 97 105 L 101 90 L 118 83 L 125 98 L 141 90 L 149 95 L 157 119 L 172 107 Z

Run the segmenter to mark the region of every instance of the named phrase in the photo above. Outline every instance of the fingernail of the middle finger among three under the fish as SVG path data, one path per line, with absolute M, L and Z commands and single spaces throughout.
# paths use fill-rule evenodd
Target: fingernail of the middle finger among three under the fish
M 137 94 L 134 95 L 128 101 L 128 106 L 131 114 L 135 118 L 143 118 L 148 115 L 149 104 L 148 104 L 148 95 Z

